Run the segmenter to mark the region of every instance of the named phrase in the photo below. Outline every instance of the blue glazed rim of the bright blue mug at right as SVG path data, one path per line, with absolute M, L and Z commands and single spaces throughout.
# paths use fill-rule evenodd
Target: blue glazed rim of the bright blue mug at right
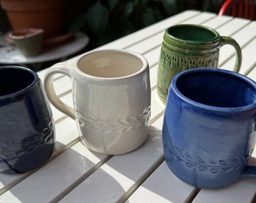
M 251 104 L 249 104 L 249 105 L 244 105 L 244 106 L 239 106 L 239 107 L 234 107 L 234 108 L 204 105 L 200 102 L 196 102 L 193 99 L 188 98 L 183 93 L 181 93 L 181 91 L 178 89 L 177 80 L 180 77 L 184 77 L 184 75 L 186 75 L 186 74 L 191 74 L 191 73 L 194 73 L 194 72 L 200 72 L 200 73 L 203 73 L 203 72 L 205 72 L 205 73 L 206 72 L 219 72 L 221 74 L 230 75 L 232 77 L 239 78 L 239 80 L 245 81 L 256 92 L 256 83 L 254 82 L 254 80 L 251 80 L 251 78 L 246 77 L 243 74 L 236 73 L 234 71 L 229 71 L 229 70 L 219 69 L 219 68 L 193 68 L 193 69 L 189 69 L 189 70 L 186 70 L 186 71 L 181 71 L 180 73 L 176 74 L 175 77 L 173 77 L 171 86 L 169 88 L 169 92 L 171 90 L 173 90 L 175 92 L 176 96 L 178 96 L 178 98 L 181 98 L 182 101 L 186 102 L 189 105 L 193 105 L 194 107 L 205 109 L 205 110 L 208 110 L 208 111 L 221 111 L 221 112 L 237 112 L 237 111 L 239 111 L 239 112 L 241 112 L 241 111 L 247 111 L 251 108 L 256 108 L 256 98 L 254 99 L 254 102 L 251 102 Z M 168 102 L 168 96 L 167 96 L 167 102 Z M 167 104 L 167 102 L 166 102 L 166 104 Z

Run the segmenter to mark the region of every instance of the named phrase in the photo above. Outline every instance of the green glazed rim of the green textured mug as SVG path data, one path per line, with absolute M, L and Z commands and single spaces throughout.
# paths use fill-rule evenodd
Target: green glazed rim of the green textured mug
M 207 30 L 209 32 L 212 32 L 215 35 L 215 37 L 210 39 L 210 40 L 205 40 L 205 41 L 186 40 L 186 39 L 178 38 L 175 35 L 172 35 L 172 34 L 169 33 L 169 29 L 175 29 L 175 28 L 180 28 L 180 27 L 192 27 L 192 28 L 204 29 L 204 30 Z M 212 41 L 216 41 L 216 40 L 218 40 L 218 38 L 220 38 L 220 34 L 215 29 L 212 29 L 208 26 L 202 26 L 202 25 L 197 25 L 197 24 L 177 24 L 175 26 L 170 26 L 169 28 L 167 28 L 165 33 L 169 37 L 175 38 L 176 41 L 180 41 L 180 42 L 183 42 L 183 43 L 189 42 L 189 43 L 192 43 L 192 44 L 195 44 L 195 43 L 199 43 L 199 44 L 209 43 L 209 42 L 212 42 Z

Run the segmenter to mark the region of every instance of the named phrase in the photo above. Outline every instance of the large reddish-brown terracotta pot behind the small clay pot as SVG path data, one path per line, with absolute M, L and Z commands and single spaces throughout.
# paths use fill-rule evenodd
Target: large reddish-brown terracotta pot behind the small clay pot
M 63 0 L 1 0 L 12 29 L 41 28 L 45 38 L 62 35 Z

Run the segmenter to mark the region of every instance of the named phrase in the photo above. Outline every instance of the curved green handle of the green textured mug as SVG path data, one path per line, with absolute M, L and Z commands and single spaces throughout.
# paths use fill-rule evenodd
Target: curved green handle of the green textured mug
M 239 70 L 241 68 L 241 64 L 242 64 L 241 48 L 240 48 L 239 44 L 233 38 L 226 37 L 226 36 L 221 36 L 221 46 L 223 46 L 225 44 L 230 44 L 231 46 L 233 46 L 235 48 L 235 50 L 236 50 L 236 62 L 235 62 L 235 66 L 233 68 L 233 71 L 239 72 Z

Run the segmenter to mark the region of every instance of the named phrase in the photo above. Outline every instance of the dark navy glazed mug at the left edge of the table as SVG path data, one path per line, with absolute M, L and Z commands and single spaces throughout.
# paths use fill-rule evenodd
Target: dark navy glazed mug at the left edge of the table
M 0 172 L 25 173 L 53 153 L 55 129 L 38 75 L 15 65 L 0 67 Z

